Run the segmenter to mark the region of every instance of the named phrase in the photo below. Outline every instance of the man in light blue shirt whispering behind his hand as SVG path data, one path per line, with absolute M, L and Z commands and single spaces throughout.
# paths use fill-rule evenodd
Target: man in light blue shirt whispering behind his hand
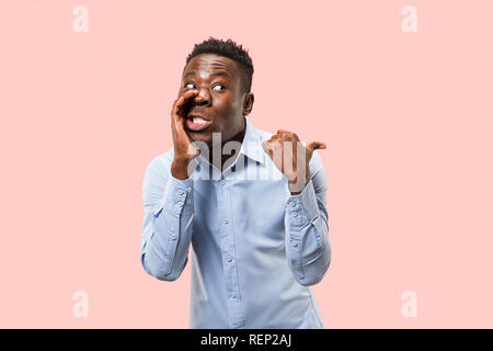
M 325 145 L 256 129 L 245 118 L 252 76 L 249 54 L 230 39 L 210 37 L 188 55 L 173 149 L 144 180 L 141 264 L 174 281 L 192 242 L 191 328 L 324 328 L 309 286 L 331 261 L 314 152 Z

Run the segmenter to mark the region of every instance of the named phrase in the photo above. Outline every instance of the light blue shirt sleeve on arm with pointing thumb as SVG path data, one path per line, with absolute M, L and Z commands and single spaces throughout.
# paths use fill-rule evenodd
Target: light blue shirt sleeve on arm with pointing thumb
M 331 263 L 326 180 L 317 151 L 310 160 L 310 181 L 288 196 L 285 213 L 286 256 L 295 279 L 303 286 L 319 283 Z

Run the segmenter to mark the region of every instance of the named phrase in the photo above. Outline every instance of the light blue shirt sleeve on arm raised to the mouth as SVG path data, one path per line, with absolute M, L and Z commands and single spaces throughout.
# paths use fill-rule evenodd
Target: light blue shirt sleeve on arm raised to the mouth
M 194 218 L 193 179 L 175 179 L 170 165 L 152 160 L 142 185 L 141 264 L 164 281 L 176 280 L 186 265 Z

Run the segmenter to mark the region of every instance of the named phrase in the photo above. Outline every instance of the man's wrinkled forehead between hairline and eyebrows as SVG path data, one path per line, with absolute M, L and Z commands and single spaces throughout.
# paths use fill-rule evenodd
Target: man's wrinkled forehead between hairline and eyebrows
M 227 79 L 236 79 L 238 77 L 237 63 L 216 54 L 200 54 L 193 57 L 183 70 L 183 78 L 198 76 L 206 79 L 217 75 L 225 75 Z

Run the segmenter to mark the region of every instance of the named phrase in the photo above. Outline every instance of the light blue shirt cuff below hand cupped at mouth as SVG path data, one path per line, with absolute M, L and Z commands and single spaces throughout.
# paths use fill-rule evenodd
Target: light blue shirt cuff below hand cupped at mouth
M 154 217 L 165 208 L 169 213 L 180 216 L 182 213 L 193 213 L 194 211 L 194 181 L 191 178 L 180 180 L 170 176 L 164 188 L 161 204 L 154 211 Z

